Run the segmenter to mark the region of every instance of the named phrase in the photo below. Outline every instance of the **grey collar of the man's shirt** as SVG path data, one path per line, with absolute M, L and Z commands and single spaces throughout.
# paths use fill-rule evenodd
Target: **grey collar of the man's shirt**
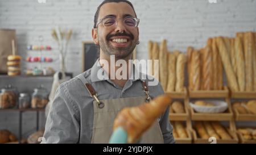
M 135 67 L 134 64 L 133 64 L 133 73 L 134 74 L 131 74 L 129 80 L 134 82 L 134 81 L 137 81 L 138 79 L 141 79 L 141 81 L 143 81 L 143 77 L 142 77 L 143 74 L 141 72 L 139 72 L 139 70 Z M 99 74 L 99 76 L 98 76 L 98 74 Z M 108 74 L 105 72 L 105 70 L 100 65 L 99 58 L 92 66 L 90 77 L 92 79 L 92 82 L 109 80 Z

